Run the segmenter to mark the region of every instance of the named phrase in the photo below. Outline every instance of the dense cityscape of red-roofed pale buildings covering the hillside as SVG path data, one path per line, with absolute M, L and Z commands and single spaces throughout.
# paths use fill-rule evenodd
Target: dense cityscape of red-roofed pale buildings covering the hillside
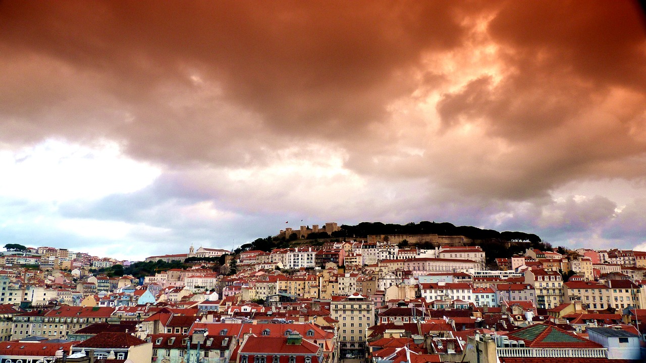
M 297 233 L 299 245 L 269 251 L 190 246 L 145 259 L 161 267 L 141 277 L 114 274 L 129 261 L 11 248 L 0 257 L 0 361 L 646 357 L 646 252 L 528 244 L 499 258 L 453 237 L 426 249 L 383 236 L 300 242 L 319 232 L 281 231 Z M 163 267 L 178 262 L 182 268 Z

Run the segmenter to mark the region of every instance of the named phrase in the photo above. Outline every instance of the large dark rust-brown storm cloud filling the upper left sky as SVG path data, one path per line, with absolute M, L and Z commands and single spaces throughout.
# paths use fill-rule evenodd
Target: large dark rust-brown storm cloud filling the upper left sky
M 155 86 L 197 68 L 282 131 L 382 118 L 415 87 L 397 72 L 464 33 L 441 2 L 5 2 L 2 14 L 6 48 L 106 72 L 118 97 L 150 101 Z

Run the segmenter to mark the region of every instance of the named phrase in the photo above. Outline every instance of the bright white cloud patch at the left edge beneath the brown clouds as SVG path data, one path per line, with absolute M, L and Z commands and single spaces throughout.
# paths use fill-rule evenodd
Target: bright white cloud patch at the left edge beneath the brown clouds
M 136 191 L 161 172 L 125 157 L 116 142 L 84 146 L 53 139 L 0 151 L 0 170 L 0 197 L 58 202 Z

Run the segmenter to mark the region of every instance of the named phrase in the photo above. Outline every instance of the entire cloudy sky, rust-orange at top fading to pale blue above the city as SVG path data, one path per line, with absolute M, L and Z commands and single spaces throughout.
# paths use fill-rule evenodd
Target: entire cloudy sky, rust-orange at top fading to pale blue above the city
M 646 250 L 631 1 L 1 1 L 0 80 L 3 245 L 446 221 Z

